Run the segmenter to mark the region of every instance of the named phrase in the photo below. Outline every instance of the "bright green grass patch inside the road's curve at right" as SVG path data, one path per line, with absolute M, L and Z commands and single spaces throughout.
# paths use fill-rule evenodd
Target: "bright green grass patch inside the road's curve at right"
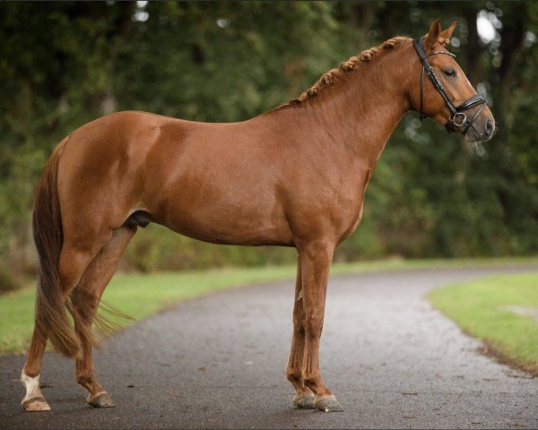
M 472 280 L 430 292 L 432 304 L 484 340 L 500 361 L 538 374 L 538 322 L 509 306 L 538 309 L 538 273 Z

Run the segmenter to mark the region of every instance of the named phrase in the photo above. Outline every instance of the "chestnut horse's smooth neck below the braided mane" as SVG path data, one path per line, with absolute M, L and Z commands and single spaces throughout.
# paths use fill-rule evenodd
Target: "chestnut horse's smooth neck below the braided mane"
M 336 142 L 351 157 L 359 157 L 366 168 L 374 168 L 388 138 L 410 108 L 406 88 L 410 82 L 402 82 L 402 76 L 410 73 L 402 70 L 396 53 L 387 56 L 392 58 L 379 59 L 384 64 L 376 67 L 372 62 L 344 73 L 343 81 L 334 88 L 326 88 L 282 113 L 290 116 L 291 124 L 308 126 L 303 135 Z

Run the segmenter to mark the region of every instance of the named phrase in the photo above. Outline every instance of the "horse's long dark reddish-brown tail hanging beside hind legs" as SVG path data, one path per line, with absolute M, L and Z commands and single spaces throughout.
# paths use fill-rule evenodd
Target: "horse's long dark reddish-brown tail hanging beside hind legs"
M 81 342 L 65 313 L 58 271 L 64 242 L 57 188 L 58 160 L 68 140 L 69 137 L 60 142 L 48 159 L 34 203 L 33 236 L 39 255 L 35 330 L 41 339 L 49 339 L 60 354 L 78 357 Z

